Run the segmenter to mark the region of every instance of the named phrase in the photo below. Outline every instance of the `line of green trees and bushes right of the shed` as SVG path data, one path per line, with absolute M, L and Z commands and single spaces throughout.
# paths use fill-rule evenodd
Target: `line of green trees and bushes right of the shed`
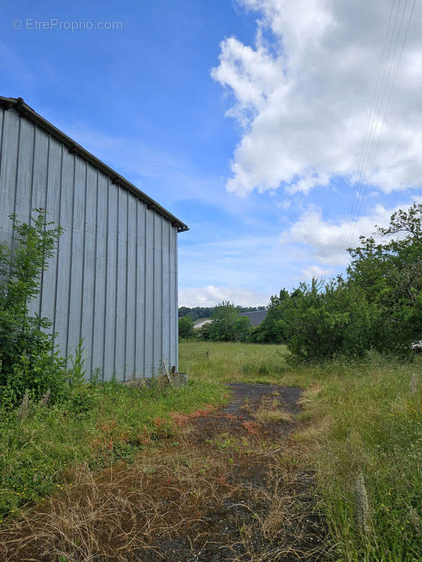
M 203 339 L 286 344 L 291 358 L 409 355 L 422 339 L 422 204 L 392 214 L 388 228 L 359 237 L 347 274 L 312 279 L 271 297 L 267 317 L 246 325 L 231 303 L 215 307 Z

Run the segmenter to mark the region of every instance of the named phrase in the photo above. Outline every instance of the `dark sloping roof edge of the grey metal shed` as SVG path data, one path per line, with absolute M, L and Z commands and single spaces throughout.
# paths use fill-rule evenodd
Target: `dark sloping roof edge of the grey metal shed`
M 188 226 L 186 226 L 185 223 L 179 221 L 179 218 L 169 213 L 169 211 L 167 211 L 164 207 L 161 207 L 161 205 L 151 199 L 151 197 L 148 197 L 146 193 L 138 189 L 136 185 L 130 183 L 130 181 L 127 181 L 127 179 L 123 176 L 120 176 L 120 174 L 117 174 L 117 171 L 114 171 L 112 168 L 110 168 L 110 166 L 107 166 L 107 164 L 96 158 L 91 154 L 91 152 L 88 152 L 88 150 L 85 150 L 81 145 L 75 143 L 75 141 L 73 141 L 73 139 L 69 136 L 65 135 L 63 131 L 57 129 L 57 127 L 52 125 L 49 121 L 44 119 L 44 117 L 41 117 L 41 115 L 35 112 L 32 107 L 24 102 L 22 98 L 4 98 L 3 96 L 0 96 L 0 106 L 4 107 L 5 110 L 13 107 L 13 109 L 16 110 L 21 117 L 30 119 L 32 122 L 40 126 L 41 129 L 44 129 L 44 131 L 50 133 L 53 137 L 57 138 L 59 141 L 65 144 L 68 147 L 69 152 L 75 152 L 82 158 L 86 159 L 93 166 L 96 166 L 96 168 L 103 171 L 106 176 L 109 176 L 113 183 L 121 185 L 122 188 L 129 190 L 134 195 L 136 195 L 136 197 L 139 197 L 139 199 L 141 199 L 148 205 L 148 209 L 154 209 L 158 212 L 158 214 L 167 218 L 167 220 L 172 223 L 172 226 L 177 226 L 178 233 L 189 230 Z

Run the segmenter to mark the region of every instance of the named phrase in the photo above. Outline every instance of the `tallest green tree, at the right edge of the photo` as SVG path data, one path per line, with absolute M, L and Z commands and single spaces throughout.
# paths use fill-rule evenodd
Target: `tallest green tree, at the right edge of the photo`
M 381 352 L 408 353 L 422 339 L 421 222 L 422 204 L 414 203 L 392 214 L 388 228 L 377 229 L 390 240 L 362 236 L 349 250 L 349 283 L 373 305 L 371 345 Z

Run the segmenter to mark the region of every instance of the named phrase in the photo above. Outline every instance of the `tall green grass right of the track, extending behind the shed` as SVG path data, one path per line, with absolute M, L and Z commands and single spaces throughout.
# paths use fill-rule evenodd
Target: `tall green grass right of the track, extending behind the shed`
M 303 444 L 304 462 L 316 469 L 334 559 L 421 561 L 420 358 L 401 363 L 373 355 L 362 362 L 289 367 L 285 353 L 283 346 L 184 343 L 180 367 L 198 381 L 305 388 L 295 438 Z

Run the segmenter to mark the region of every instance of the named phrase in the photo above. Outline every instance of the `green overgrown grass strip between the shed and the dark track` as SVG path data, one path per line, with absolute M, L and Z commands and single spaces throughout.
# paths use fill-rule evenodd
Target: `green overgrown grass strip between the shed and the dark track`
M 171 412 L 221 403 L 226 389 L 206 381 L 180 390 L 107 383 L 86 394 L 86 408 L 79 394 L 61 405 L 33 404 L 24 419 L 0 412 L 0 523 L 25 504 L 46 501 L 82 463 L 99 469 L 132 462 L 136 452 L 174 434 Z

